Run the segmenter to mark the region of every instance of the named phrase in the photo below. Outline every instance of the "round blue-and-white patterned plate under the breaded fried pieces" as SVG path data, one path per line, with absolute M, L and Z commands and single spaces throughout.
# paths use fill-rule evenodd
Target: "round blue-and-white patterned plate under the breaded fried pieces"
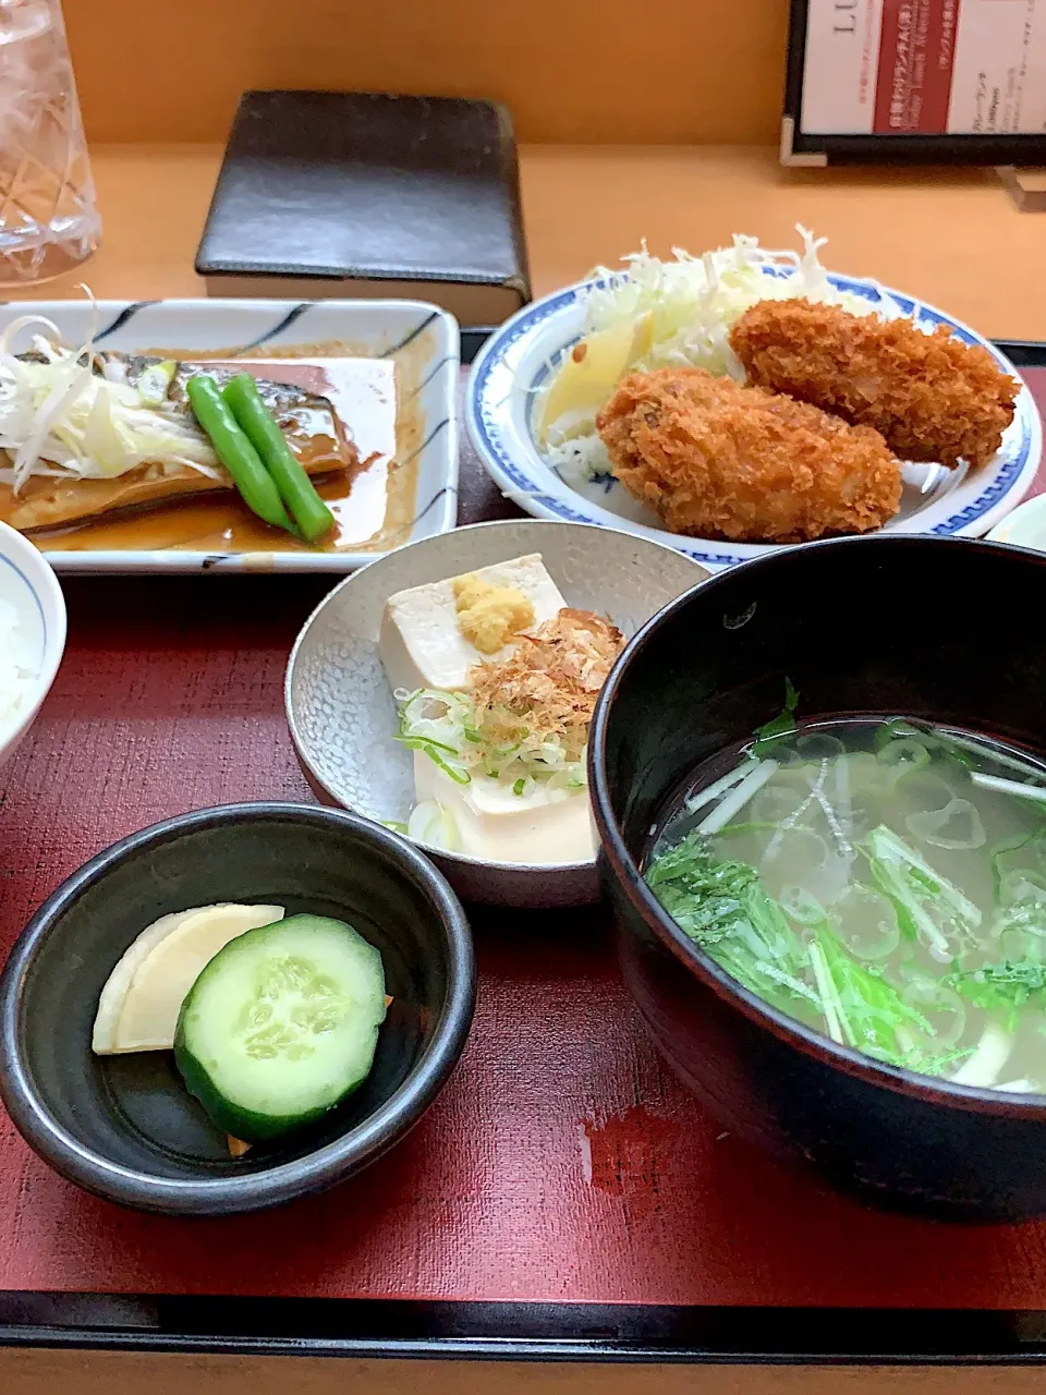
M 1000 368 L 1020 379 L 1010 360 L 993 345 L 940 310 L 876 282 L 834 275 L 830 280 L 840 290 L 883 304 L 887 311 L 891 303 L 900 306 L 923 325 L 947 325 L 965 343 L 983 345 Z M 566 484 L 543 458 L 533 430 L 537 389 L 577 342 L 583 325 L 584 286 L 570 286 L 534 301 L 502 325 L 473 365 L 466 423 L 480 459 L 502 492 L 536 518 L 600 523 L 639 533 L 706 566 L 732 566 L 771 551 L 773 544 L 721 543 L 668 533 L 612 477 Z M 901 511 L 883 531 L 979 537 L 1020 504 L 1031 488 L 1040 455 L 1042 421 L 1031 392 L 1022 385 L 1014 421 L 996 458 L 979 470 L 907 465 Z

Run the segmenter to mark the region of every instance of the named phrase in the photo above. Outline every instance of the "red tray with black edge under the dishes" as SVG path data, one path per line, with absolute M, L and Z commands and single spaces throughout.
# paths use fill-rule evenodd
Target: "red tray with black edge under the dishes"
M 1046 368 L 1029 381 L 1046 406 Z M 515 512 L 474 458 L 463 465 L 463 519 Z M 66 580 L 66 661 L 3 774 L 0 954 L 67 873 L 131 830 L 227 801 L 311 798 L 282 678 L 329 585 Z M 873 1212 L 722 1134 L 644 1039 L 602 911 L 477 910 L 474 929 L 478 1010 L 457 1073 L 406 1143 L 326 1196 L 230 1221 L 121 1211 L 49 1172 L 0 1113 L 0 1339 L 695 1359 L 1046 1350 L 1046 1225 Z

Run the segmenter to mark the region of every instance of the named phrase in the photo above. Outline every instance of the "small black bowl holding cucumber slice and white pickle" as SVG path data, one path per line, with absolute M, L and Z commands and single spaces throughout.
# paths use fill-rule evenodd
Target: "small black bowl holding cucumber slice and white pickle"
M 215 901 L 347 921 L 385 961 L 392 1006 L 364 1084 L 319 1123 L 244 1158 L 169 1052 L 98 1057 L 102 988 L 139 930 Z M 0 978 L 0 1098 L 70 1182 L 170 1215 L 229 1215 L 319 1191 L 417 1123 L 462 1053 L 476 1003 L 471 935 L 439 872 L 349 813 L 241 804 L 181 815 L 92 858 L 40 907 Z

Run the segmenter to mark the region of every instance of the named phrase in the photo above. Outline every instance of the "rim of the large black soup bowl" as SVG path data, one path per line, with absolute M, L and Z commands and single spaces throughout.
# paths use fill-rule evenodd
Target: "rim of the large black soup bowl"
M 749 989 L 727 974 L 725 970 L 720 968 L 708 954 L 679 929 L 671 915 L 661 907 L 661 903 L 647 887 L 646 880 L 625 847 L 625 840 L 614 817 L 609 781 L 607 778 L 607 731 L 611 721 L 611 709 L 625 675 L 633 664 L 642 661 L 643 653 L 657 631 L 672 621 L 679 611 L 686 610 L 699 591 L 704 594 L 708 590 L 720 590 L 729 586 L 739 575 L 755 569 L 773 571 L 782 566 L 788 568 L 791 558 L 801 554 L 833 551 L 841 547 L 890 547 L 905 551 L 932 547 L 934 550 L 950 548 L 953 551 L 961 550 L 969 554 L 980 552 L 986 555 L 1018 554 L 1032 565 L 1046 566 L 1046 555 L 1033 548 L 1013 547 L 1008 543 L 989 543 L 980 538 L 926 537 L 902 533 L 861 538 L 828 538 L 817 543 L 803 543 L 787 550 L 782 548 L 717 572 L 707 580 L 699 582 L 689 591 L 683 591 L 682 596 L 669 601 L 664 610 L 647 621 L 643 629 L 633 635 L 614 665 L 596 703 L 589 734 L 589 788 L 591 791 L 593 817 L 600 834 L 602 857 L 632 908 L 683 968 L 706 983 L 718 997 L 736 1006 L 749 1021 L 770 1030 L 777 1038 L 801 1050 L 805 1056 L 827 1063 L 870 1085 L 886 1087 L 897 1094 L 920 1098 L 936 1105 L 1003 1117 L 1042 1113 L 1046 1109 L 1046 1095 L 1006 1095 L 1000 1091 L 983 1089 L 975 1085 L 957 1085 L 944 1080 L 937 1081 L 936 1077 L 919 1076 L 900 1066 L 887 1066 L 874 1062 L 870 1056 L 865 1056 L 851 1046 L 837 1045 L 830 1038 L 821 1036 L 812 1028 L 805 1027 L 802 1023 L 763 1002 L 761 997 L 749 992 Z

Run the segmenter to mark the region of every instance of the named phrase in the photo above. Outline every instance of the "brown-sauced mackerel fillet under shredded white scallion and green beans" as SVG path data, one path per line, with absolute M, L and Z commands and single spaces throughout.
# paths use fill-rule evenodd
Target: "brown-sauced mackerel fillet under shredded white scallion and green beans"
M 142 372 L 160 359 L 141 354 L 127 357 L 117 353 L 95 354 L 95 371 L 102 374 L 109 365 L 123 364 L 126 381 L 137 384 Z M 179 412 L 191 417 L 185 396 L 185 382 L 194 372 L 211 374 L 219 385 L 226 384 L 238 367 L 213 363 L 180 363 L 167 392 Z M 356 446 L 346 435 L 344 425 L 326 398 L 305 392 L 286 382 L 258 378 L 258 392 L 287 438 L 287 445 L 311 476 L 333 474 L 360 467 Z M 8 463 L 8 453 L 0 451 L 0 463 Z M 70 527 L 114 513 L 151 508 L 158 504 L 188 499 L 195 495 L 229 492 L 232 480 L 212 480 L 187 465 L 139 465 L 126 474 L 107 480 L 81 480 L 54 476 L 31 476 L 15 495 L 8 484 L 0 484 L 0 519 L 20 533 Z

